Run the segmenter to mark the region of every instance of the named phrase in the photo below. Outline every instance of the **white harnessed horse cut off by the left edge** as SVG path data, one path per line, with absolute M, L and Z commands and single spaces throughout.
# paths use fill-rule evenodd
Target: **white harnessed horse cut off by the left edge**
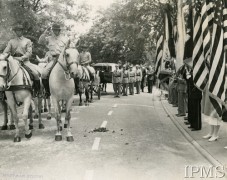
M 25 123 L 25 137 L 31 138 L 32 131 L 28 125 L 28 111 L 32 99 L 32 81 L 27 71 L 20 63 L 11 56 L 0 55 L 0 90 L 5 91 L 7 104 L 11 110 L 12 119 L 16 126 L 14 142 L 20 142 L 18 127 L 19 117 L 17 115 L 17 102 L 24 104 L 22 119 Z

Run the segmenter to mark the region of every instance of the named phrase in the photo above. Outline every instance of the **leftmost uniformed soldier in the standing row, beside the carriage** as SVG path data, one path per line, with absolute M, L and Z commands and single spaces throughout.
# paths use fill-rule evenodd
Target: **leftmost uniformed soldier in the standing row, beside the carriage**
M 123 79 L 123 73 L 119 69 L 118 64 L 116 64 L 115 67 L 116 67 L 116 69 L 113 71 L 113 74 L 112 74 L 112 83 L 113 83 L 113 89 L 115 92 L 114 97 L 119 98 L 120 97 L 119 95 L 121 94 L 121 83 L 122 83 L 122 79 Z

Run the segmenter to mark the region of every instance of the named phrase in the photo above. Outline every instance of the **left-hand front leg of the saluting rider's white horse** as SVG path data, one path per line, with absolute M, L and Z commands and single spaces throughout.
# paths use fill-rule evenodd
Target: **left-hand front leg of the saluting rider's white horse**
M 56 124 L 57 124 L 57 131 L 55 134 L 55 141 L 61 141 L 62 140 L 62 135 L 61 135 L 61 108 L 59 105 L 59 102 L 55 97 L 52 97 L 52 102 L 54 105 L 54 111 L 55 111 L 55 119 L 56 119 Z

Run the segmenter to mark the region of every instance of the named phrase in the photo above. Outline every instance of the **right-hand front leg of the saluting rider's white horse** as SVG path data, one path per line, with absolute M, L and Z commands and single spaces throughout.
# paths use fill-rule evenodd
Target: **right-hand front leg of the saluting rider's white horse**
M 72 106 L 72 102 L 73 102 L 73 97 L 71 97 L 71 99 L 69 99 L 67 104 L 66 104 L 66 116 L 65 116 L 65 124 L 67 126 L 67 137 L 66 137 L 66 139 L 69 142 L 74 141 L 73 135 L 71 133 L 71 128 L 70 128 L 70 120 L 71 120 L 70 109 L 71 109 L 71 106 Z

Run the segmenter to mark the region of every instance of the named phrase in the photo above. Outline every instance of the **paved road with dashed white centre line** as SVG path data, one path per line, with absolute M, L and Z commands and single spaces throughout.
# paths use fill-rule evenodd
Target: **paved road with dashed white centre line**
M 72 143 L 54 141 L 53 118 L 44 130 L 35 121 L 33 137 L 20 143 L 12 142 L 13 131 L 0 132 L 0 180 L 181 180 L 186 165 L 210 165 L 167 117 L 157 93 L 96 99 L 73 106 Z M 90 132 L 101 126 L 108 132 Z

